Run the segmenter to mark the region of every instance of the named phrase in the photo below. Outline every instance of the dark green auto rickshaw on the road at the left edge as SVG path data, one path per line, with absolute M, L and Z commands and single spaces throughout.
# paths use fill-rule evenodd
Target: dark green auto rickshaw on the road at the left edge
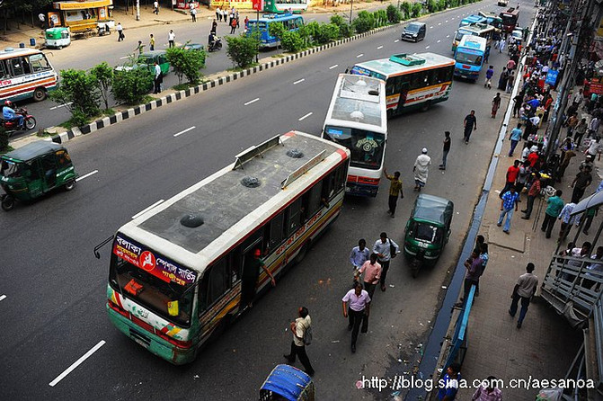
M 59 187 L 71 191 L 75 168 L 67 149 L 53 142 L 31 142 L 0 156 L 2 209 L 13 209 L 15 200 L 34 200 Z

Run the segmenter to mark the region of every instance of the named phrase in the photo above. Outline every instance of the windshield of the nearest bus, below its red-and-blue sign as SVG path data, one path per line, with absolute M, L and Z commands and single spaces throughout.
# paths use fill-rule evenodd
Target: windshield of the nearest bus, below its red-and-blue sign
M 164 319 L 181 326 L 191 325 L 194 291 L 187 291 L 190 286 L 161 280 L 116 254 L 111 254 L 109 282 L 113 290 Z

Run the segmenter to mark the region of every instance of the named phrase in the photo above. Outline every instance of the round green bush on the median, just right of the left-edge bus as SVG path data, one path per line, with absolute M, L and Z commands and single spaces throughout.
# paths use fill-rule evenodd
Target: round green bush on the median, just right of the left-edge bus
M 81 69 L 64 69 L 60 72 L 61 85 L 49 98 L 71 111 L 74 122 L 80 125 L 99 113 L 100 94 L 96 78 Z

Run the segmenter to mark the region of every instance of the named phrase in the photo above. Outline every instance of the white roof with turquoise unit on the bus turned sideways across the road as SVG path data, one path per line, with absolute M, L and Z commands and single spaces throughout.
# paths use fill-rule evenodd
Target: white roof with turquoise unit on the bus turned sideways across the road
M 403 60 L 410 60 L 410 62 L 405 63 Z M 414 60 L 419 62 L 415 63 Z M 455 60 L 453 58 L 435 53 L 401 54 L 357 64 L 359 67 L 367 68 L 383 76 L 400 76 L 415 71 L 454 65 Z

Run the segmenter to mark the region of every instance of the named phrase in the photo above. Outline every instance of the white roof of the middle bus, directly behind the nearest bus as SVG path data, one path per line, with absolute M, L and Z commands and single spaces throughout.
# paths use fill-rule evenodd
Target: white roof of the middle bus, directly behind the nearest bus
M 370 76 L 340 74 L 327 120 L 368 124 L 386 133 L 386 83 Z

